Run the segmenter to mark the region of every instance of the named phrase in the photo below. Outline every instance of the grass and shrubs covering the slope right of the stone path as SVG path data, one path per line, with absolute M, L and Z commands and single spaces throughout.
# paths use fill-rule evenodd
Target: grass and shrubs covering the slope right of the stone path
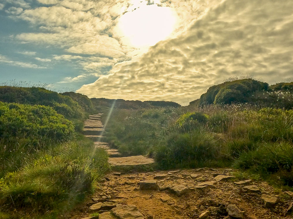
M 202 96 L 210 105 L 115 109 L 106 140 L 122 154 L 154 157 L 159 169 L 233 166 L 292 187 L 292 93 L 252 79 L 225 83 Z

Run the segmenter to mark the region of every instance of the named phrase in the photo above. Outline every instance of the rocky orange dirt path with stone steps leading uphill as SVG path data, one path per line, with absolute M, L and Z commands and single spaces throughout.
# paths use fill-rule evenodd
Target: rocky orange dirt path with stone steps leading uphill
M 293 192 L 275 190 L 266 182 L 239 181 L 232 169 L 200 168 L 151 173 L 127 173 L 151 165 L 143 156 L 121 157 L 103 142 L 101 113 L 85 122 L 86 136 L 109 154 L 114 172 L 79 215 L 86 219 L 218 219 L 293 218 Z M 289 210 L 288 210 L 289 209 Z M 287 212 L 288 211 L 288 212 Z M 98 212 L 99 216 L 91 216 Z

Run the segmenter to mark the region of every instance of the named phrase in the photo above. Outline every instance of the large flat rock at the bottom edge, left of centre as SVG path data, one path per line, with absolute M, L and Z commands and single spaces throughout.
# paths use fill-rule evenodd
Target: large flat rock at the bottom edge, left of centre
M 142 213 L 140 213 L 138 208 L 134 205 L 122 205 L 113 208 L 111 213 L 119 219 L 144 219 Z

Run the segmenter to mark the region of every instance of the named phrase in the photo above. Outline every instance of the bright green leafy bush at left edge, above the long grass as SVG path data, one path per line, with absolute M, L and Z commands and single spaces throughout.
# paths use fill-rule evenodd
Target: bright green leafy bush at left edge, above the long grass
M 13 142 L 27 140 L 30 150 L 70 140 L 74 126 L 52 107 L 0 102 L 0 130 L 2 139 L 10 139 Z

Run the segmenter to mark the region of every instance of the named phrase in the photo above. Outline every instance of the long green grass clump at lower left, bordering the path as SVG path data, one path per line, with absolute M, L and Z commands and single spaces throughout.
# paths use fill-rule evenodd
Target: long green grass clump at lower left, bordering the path
M 83 136 L 40 151 L 23 168 L 1 178 L 1 211 L 11 218 L 66 214 L 93 192 L 109 170 L 107 160 L 106 152 Z

